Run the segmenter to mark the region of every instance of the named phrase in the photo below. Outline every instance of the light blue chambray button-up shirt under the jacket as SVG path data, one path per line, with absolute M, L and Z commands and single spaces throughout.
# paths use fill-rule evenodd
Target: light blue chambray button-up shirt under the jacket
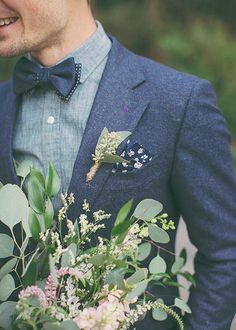
M 23 95 L 18 109 L 13 137 L 14 158 L 32 160 L 45 174 L 51 161 L 66 192 L 86 123 L 111 49 L 111 41 L 97 22 L 96 32 L 75 52 L 75 62 L 82 64 L 81 84 L 69 103 L 55 90 L 38 87 Z M 29 58 L 33 61 L 32 57 Z M 59 207 L 59 199 L 54 206 Z

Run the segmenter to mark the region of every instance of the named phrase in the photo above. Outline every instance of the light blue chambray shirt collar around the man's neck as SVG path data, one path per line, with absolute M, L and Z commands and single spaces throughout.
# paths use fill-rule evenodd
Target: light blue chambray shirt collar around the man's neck
M 111 49 L 112 42 L 105 33 L 102 24 L 96 21 L 96 25 L 97 30 L 78 49 L 60 61 L 62 62 L 67 58 L 74 57 L 76 63 L 81 63 L 82 71 L 80 83 L 85 82 L 99 64 L 107 57 Z M 31 54 L 28 54 L 28 58 L 38 63 Z M 38 64 L 42 67 L 40 63 Z

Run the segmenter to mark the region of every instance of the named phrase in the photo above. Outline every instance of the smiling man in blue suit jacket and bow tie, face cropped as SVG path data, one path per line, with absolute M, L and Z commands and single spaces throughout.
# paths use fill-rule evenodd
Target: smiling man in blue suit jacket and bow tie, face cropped
M 183 215 L 198 248 L 186 329 L 229 329 L 236 310 L 236 180 L 210 84 L 129 52 L 94 21 L 87 0 L 0 0 L 0 56 L 25 53 L 13 80 L 0 86 L 0 181 L 18 182 L 13 156 L 43 170 L 50 160 L 62 190 L 75 193 L 73 218 L 84 198 L 93 210 L 113 214 L 130 198 L 153 198 L 176 224 Z M 149 161 L 137 169 L 134 159 L 127 172 L 103 165 L 87 184 L 104 127 L 131 131 L 119 153 L 138 147 Z M 175 288 L 155 290 L 166 303 L 177 295 Z M 148 315 L 138 329 L 174 326 Z

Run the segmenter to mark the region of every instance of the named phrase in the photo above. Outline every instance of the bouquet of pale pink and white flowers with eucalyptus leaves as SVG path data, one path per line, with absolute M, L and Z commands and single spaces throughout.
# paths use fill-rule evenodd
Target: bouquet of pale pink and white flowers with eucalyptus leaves
M 55 217 L 52 198 L 60 178 L 52 164 L 46 178 L 30 162 L 18 165 L 17 174 L 21 187 L 0 188 L 0 220 L 8 228 L 0 234 L 0 258 L 6 260 L 0 268 L 2 329 L 125 330 L 148 312 L 157 321 L 174 317 L 184 329 L 173 307 L 191 313 L 188 305 L 176 297 L 174 306 L 167 306 L 149 291 L 151 285 L 178 285 L 177 274 L 195 284 L 181 271 L 183 256 L 167 271 L 162 250 L 174 222 L 158 201 L 143 200 L 135 209 L 128 201 L 105 238 L 99 232 L 111 214 L 91 213 L 85 200 L 83 214 L 72 222 L 67 216 L 72 193 L 61 195 Z

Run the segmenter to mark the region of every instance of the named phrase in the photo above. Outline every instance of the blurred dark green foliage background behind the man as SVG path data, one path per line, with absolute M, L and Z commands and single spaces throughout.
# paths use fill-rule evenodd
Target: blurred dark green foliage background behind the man
M 92 0 L 96 18 L 136 53 L 211 81 L 236 164 L 236 1 Z M 15 59 L 0 59 L 0 80 Z

